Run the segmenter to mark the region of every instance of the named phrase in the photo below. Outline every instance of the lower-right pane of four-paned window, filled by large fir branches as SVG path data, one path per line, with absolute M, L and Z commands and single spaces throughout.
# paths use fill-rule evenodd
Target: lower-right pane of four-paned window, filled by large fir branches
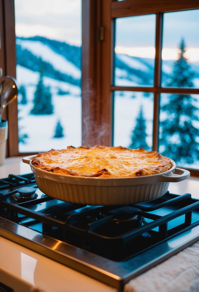
M 161 94 L 159 152 L 199 169 L 199 95 Z

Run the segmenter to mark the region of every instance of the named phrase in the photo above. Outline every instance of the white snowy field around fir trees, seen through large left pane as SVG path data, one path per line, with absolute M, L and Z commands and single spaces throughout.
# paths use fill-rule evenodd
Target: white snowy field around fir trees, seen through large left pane
M 20 134 L 27 134 L 25 144 L 19 144 L 20 152 L 48 151 L 52 148 L 63 149 L 69 145 L 81 145 L 81 90 L 78 86 L 44 77 L 46 86 L 51 87 L 54 113 L 50 115 L 32 115 L 34 91 L 39 80 L 39 73 L 17 66 L 17 83 L 25 85 L 27 105 L 20 104 L 18 96 L 18 126 Z M 69 91 L 67 95 L 57 95 L 57 90 Z M 57 121 L 64 128 L 63 138 L 53 138 Z

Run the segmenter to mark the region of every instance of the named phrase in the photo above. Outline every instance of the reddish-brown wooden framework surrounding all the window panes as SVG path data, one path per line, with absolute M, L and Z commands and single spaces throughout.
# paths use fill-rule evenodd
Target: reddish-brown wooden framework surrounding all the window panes
M 163 13 L 199 9 L 198 0 L 82 0 L 82 145 L 112 145 L 114 91 L 154 94 L 153 150 L 158 149 L 160 93 L 199 94 L 197 88 L 161 88 L 161 45 Z M 2 14 L 2 15 L 1 15 Z M 114 20 L 120 17 L 156 14 L 156 55 L 153 87 L 114 86 L 112 82 Z M 1 17 L 2 16 L 2 17 Z M 104 38 L 100 38 L 100 27 Z M 14 0 L 0 0 L 0 66 L 4 75 L 16 77 Z M 7 107 L 7 156 L 28 155 L 18 151 L 17 101 Z M 85 120 L 89 122 L 89 128 Z M 97 129 L 107 130 L 99 135 Z M 190 170 L 192 175 L 199 171 Z

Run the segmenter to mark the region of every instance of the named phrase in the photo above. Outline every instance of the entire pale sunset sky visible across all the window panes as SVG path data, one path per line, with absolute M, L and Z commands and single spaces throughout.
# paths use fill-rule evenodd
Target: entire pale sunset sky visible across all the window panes
M 154 58 L 155 15 L 116 20 L 116 53 Z M 81 0 L 15 0 L 17 36 L 41 35 L 81 46 Z M 199 62 L 199 10 L 164 15 L 163 60 L 176 60 L 181 39 L 186 58 Z

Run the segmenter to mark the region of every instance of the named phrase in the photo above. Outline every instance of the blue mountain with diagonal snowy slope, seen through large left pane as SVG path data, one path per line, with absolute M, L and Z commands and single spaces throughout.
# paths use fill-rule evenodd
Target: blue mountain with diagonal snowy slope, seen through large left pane
M 81 85 L 81 48 L 43 37 L 16 38 L 17 65 Z

